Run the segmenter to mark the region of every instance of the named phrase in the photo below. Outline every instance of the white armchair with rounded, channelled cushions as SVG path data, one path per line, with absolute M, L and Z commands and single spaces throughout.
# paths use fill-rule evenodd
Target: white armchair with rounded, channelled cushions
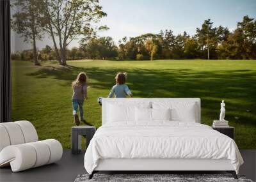
M 13 172 L 54 163 L 61 159 L 58 140 L 38 141 L 29 121 L 0 123 L 0 167 L 11 165 Z

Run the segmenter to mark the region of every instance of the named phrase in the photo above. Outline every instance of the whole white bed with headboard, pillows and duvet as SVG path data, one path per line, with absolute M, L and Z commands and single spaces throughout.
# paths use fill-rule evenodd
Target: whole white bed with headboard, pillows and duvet
M 200 124 L 200 115 L 199 98 L 103 99 L 102 126 L 86 150 L 84 167 L 92 175 L 230 171 L 237 178 L 243 158 L 236 143 Z

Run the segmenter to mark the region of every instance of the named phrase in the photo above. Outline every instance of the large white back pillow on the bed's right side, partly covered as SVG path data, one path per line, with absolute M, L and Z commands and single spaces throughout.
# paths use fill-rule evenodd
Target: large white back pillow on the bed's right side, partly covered
M 196 122 L 197 110 L 196 103 L 191 102 L 154 102 L 152 103 L 154 109 L 171 109 L 172 121 Z

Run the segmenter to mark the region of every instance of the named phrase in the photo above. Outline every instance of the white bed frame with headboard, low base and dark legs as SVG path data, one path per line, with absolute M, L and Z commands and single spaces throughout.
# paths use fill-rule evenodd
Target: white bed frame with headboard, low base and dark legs
M 169 100 L 173 102 L 193 102 L 197 104 L 197 123 L 200 123 L 201 107 L 200 98 L 108 98 L 102 100 L 102 125 L 106 123 L 108 103 L 116 102 L 138 102 L 141 100 L 153 102 L 154 100 Z M 227 171 L 232 173 L 237 179 L 234 167 L 230 160 L 211 160 L 211 159 L 123 159 L 109 158 L 99 160 L 95 171 Z

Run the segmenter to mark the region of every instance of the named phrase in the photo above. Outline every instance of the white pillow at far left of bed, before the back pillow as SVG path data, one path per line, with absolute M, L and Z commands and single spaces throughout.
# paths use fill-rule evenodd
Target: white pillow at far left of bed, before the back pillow
M 121 122 L 121 121 L 134 121 L 135 107 L 108 105 L 108 121 Z

